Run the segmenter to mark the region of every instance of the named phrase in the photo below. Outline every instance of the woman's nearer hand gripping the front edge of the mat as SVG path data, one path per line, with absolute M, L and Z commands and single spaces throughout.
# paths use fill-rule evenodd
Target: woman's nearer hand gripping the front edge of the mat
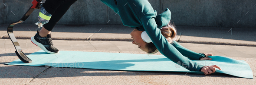
M 201 72 L 203 72 L 205 75 L 210 75 L 216 71 L 216 68 L 220 69 L 220 67 L 217 65 L 203 66 L 203 68 L 201 69 Z

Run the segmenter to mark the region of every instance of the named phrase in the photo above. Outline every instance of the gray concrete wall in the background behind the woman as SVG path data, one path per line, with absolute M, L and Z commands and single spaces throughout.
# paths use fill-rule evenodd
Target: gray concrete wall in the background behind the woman
M 0 0 L 0 24 L 8 24 L 19 20 L 32 5 L 31 1 Z M 158 14 L 169 8 L 172 13 L 171 20 L 175 25 L 256 28 L 256 0 L 148 1 L 157 10 Z M 37 22 L 38 13 L 39 10 L 35 10 L 24 23 L 33 24 Z M 120 17 L 115 14 L 100 0 L 78 0 L 70 7 L 58 24 L 122 25 Z

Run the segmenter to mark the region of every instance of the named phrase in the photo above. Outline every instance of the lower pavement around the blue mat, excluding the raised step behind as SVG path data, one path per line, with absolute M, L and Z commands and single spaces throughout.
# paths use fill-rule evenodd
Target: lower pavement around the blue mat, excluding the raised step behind
M 18 40 L 26 55 L 40 50 L 30 40 Z M 3 85 L 242 85 L 255 84 L 256 81 L 256 47 L 207 45 L 180 43 L 182 46 L 199 53 L 213 53 L 245 60 L 253 70 L 254 79 L 238 78 L 225 74 L 198 75 L 184 72 L 136 72 L 77 68 L 46 68 L 44 66 L 11 66 L 5 63 L 17 60 L 10 39 L 0 39 L 4 44 L 0 50 L 0 81 Z M 60 50 L 114 52 L 129 54 L 146 54 L 131 41 L 64 41 L 53 40 Z M 227 50 L 227 51 L 225 51 Z M 229 50 L 229 51 L 228 51 Z M 157 54 L 160 54 L 159 52 Z

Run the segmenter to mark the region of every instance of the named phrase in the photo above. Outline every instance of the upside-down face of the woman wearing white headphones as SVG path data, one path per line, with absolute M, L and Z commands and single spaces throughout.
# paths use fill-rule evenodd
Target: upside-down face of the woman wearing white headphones
M 132 38 L 132 44 L 138 45 L 138 47 L 145 51 L 148 52 L 148 49 L 146 49 L 146 42 L 144 42 L 141 38 L 141 33 L 143 31 L 138 31 L 137 29 L 134 29 L 133 31 L 131 31 L 131 38 Z

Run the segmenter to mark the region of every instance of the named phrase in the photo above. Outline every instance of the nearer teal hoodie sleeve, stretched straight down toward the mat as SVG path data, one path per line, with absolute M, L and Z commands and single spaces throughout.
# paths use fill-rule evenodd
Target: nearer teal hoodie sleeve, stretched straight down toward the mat
M 154 18 L 142 17 L 141 22 L 148 36 L 151 38 L 159 52 L 165 57 L 190 71 L 200 71 L 202 65 L 184 57 L 174 46 L 168 43 L 167 39 L 161 34 Z

